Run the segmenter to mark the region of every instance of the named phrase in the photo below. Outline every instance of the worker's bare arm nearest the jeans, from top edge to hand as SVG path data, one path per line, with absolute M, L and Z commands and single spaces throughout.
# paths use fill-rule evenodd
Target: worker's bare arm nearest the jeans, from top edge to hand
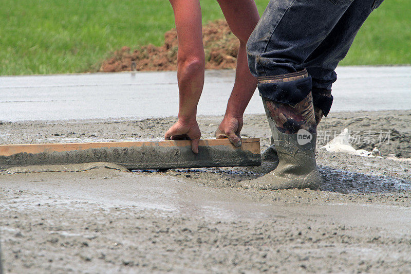
M 237 55 L 235 83 L 227 103 L 226 114 L 215 132 L 216 138 L 228 138 L 236 147 L 241 145 L 242 115 L 257 86 L 247 64 L 246 44 L 258 23 L 259 15 L 254 0 L 217 0 L 231 31 L 240 41 Z

